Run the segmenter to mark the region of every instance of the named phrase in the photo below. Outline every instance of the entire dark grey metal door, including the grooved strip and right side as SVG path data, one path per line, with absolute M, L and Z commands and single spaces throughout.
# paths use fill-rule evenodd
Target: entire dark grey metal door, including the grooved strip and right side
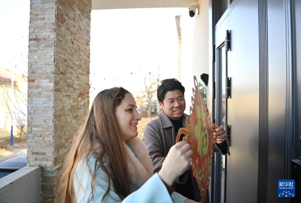
M 279 198 L 277 181 L 291 179 L 291 159 L 301 159 L 300 10 L 301 2 L 294 0 L 235 0 L 215 26 L 212 72 L 220 90 L 212 112 L 218 124 L 225 113 L 225 125 L 231 126 L 231 156 L 224 190 L 222 160 L 214 157 L 213 202 L 223 202 L 223 192 L 227 203 L 299 202 L 297 196 Z M 218 60 L 227 30 L 231 40 L 223 75 Z M 226 92 L 223 106 L 221 84 L 227 78 L 231 97 Z

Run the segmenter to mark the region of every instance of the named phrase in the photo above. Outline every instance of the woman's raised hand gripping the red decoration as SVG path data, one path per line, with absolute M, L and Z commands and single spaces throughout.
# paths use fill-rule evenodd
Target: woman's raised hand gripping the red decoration
M 191 155 L 192 151 L 187 142 L 181 141 L 173 145 L 163 161 L 162 168 L 158 173 L 160 178 L 171 186 L 175 179 L 182 175 L 191 165 Z

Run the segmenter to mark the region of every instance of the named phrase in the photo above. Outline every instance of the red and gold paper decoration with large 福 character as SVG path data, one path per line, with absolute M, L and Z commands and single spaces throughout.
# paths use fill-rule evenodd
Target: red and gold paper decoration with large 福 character
M 181 134 L 185 134 L 186 141 L 193 151 L 191 155 L 193 176 L 197 179 L 200 189 L 201 202 L 206 200 L 206 189 L 209 188 L 209 177 L 211 176 L 213 147 L 216 145 L 217 132 L 215 123 L 211 124 L 208 108 L 202 99 L 202 93 L 198 90 L 197 78 L 194 76 L 194 86 L 191 97 L 190 117 L 186 118 L 186 128 L 180 128 L 176 142 L 179 142 Z

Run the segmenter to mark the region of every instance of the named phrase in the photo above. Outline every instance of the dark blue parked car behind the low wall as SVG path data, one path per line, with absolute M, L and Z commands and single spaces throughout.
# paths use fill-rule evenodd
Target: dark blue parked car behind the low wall
M 16 152 L 0 161 L 0 178 L 27 165 L 27 150 Z

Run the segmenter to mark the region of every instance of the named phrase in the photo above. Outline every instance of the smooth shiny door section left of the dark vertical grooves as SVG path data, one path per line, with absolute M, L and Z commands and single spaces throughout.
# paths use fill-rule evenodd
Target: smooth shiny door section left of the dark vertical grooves
M 225 98 L 224 101 L 222 98 L 216 105 L 218 123 L 225 122 L 225 125 L 231 126 L 231 131 L 228 132 L 231 156 L 227 157 L 225 166 L 225 186 L 222 185 L 222 176 L 215 182 L 222 185 L 219 194 L 221 201 L 225 193 L 225 202 L 253 203 L 257 201 L 259 141 L 258 2 L 240 0 L 235 3 L 231 12 L 222 22 L 220 20 L 217 23 L 215 31 L 217 46 L 225 42 L 227 30 L 230 30 L 231 35 L 230 50 L 225 55 L 227 70 L 219 74 L 221 69 L 216 61 L 216 86 L 220 82 L 225 87 L 226 79 L 231 78 L 231 98 Z M 223 47 L 218 48 L 216 55 L 219 50 L 222 53 Z M 219 91 L 222 95 L 225 89 L 223 86 L 220 86 Z M 221 170 L 223 174 L 222 167 L 216 170 Z M 214 202 L 219 202 L 219 199 Z

